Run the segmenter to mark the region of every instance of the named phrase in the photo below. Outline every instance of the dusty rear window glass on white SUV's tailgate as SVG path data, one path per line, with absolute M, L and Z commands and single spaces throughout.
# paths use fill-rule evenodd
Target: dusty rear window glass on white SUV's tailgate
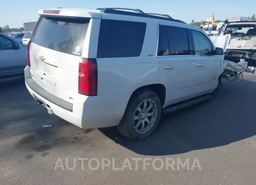
M 33 38 L 35 44 L 81 56 L 89 19 L 43 17 Z

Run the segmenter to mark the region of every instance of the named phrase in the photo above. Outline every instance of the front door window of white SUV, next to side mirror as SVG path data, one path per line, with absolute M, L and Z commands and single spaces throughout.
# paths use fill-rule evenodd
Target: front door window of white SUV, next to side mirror
M 195 44 L 195 54 L 196 55 L 213 55 L 213 46 L 210 40 L 199 31 L 191 30 L 194 44 Z

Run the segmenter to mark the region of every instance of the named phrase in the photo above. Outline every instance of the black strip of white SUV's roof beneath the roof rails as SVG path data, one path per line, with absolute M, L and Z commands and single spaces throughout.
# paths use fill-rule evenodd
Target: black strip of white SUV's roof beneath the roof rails
M 160 19 L 160 20 L 164 20 L 164 21 L 173 21 L 173 22 L 187 24 L 186 22 L 183 22 L 178 19 L 160 17 L 160 16 L 150 15 L 150 14 L 146 14 L 146 13 L 127 12 L 127 11 L 115 10 L 115 9 L 110 9 L 110 8 L 98 8 L 98 9 L 101 10 L 102 13 L 107 13 L 107 14 L 119 14 L 119 15 L 129 15 L 129 16 L 137 16 L 137 17 L 147 17 L 147 18 L 151 18 L 151 19 Z

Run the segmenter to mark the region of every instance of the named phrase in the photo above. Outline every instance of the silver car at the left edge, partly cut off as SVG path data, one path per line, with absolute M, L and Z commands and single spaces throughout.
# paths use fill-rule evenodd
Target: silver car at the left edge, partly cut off
M 0 79 L 24 75 L 27 46 L 0 33 Z

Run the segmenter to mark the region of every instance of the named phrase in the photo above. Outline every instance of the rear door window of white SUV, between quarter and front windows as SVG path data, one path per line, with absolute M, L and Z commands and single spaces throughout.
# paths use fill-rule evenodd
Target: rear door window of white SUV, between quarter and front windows
M 190 55 L 186 29 L 159 25 L 158 55 Z

